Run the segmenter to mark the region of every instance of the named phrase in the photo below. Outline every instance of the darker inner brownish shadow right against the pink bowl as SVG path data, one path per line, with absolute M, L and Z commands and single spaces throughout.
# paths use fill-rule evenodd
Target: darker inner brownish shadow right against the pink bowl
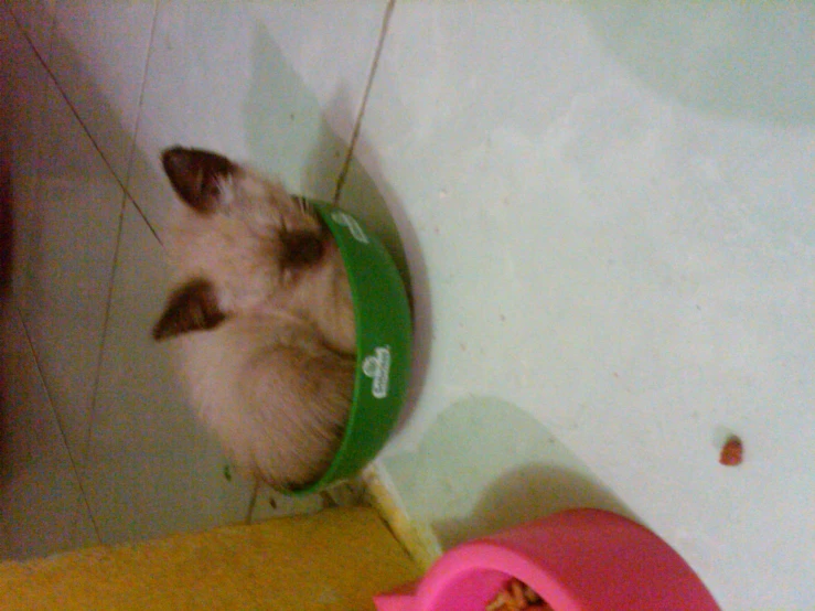
M 433 523 L 444 549 L 467 540 L 578 507 L 605 510 L 636 519 L 609 490 L 570 469 L 553 464 L 527 464 L 503 473 L 481 495 L 467 517 Z

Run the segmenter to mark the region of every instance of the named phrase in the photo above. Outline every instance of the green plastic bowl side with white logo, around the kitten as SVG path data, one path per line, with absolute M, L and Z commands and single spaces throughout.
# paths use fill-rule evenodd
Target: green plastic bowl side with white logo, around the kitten
M 351 214 L 304 199 L 336 242 L 356 321 L 356 375 L 348 421 L 329 469 L 301 496 L 356 475 L 385 446 L 399 419 L 410 377 L 412 329 L 405 283 L 390 254 Z

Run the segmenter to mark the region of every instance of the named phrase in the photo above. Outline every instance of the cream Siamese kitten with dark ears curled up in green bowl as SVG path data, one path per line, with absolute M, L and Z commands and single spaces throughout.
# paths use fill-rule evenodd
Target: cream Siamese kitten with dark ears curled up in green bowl
M 179 349 L 190 400 L 238 468 L 277 489 L 315 481 L 352 401 L 355 324 L 333 237 L 283 187 L 174 147 L 181 205 L 165 234 L 174 290 L 153 329 Z

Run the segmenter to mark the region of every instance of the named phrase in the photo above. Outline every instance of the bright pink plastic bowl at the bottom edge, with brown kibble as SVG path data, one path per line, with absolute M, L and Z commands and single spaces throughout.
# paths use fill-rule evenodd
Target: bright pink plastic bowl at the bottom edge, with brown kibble
M 647 528 L 570 510 L 460 545 L 378 611 L 484 611 L 511 579 L 555 611 L 719 611 L 693 569 Z

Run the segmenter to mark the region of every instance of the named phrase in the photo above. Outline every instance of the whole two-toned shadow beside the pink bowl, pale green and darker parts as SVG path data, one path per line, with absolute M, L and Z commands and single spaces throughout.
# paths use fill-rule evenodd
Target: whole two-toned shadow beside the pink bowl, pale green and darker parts
M 454 403 L 415 449 L 384 463 L 407 514 L 442 548 L 566 508 L 635 519 L 551 430 L 498 397 Z

